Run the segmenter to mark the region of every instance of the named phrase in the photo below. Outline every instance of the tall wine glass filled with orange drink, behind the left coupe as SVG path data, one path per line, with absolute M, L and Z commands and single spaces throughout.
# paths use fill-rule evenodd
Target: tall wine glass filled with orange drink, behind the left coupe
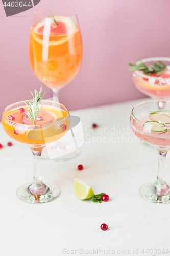
M 82 39 L 77 13 L 65 7 L 47 7 L 34 12 L 29 42 L 30 66 L 38 78 L 53 91 L 54 100 L 61 88 L 79 72 L 82 62 Z M 57 148 L 67 154 L 68 142 Z M 61 145 L 61 147 L 60 147 Z M 52 145 L 52 147 L 56 147 Z M 72 148 L 73 148 L 72 147 Z M 79 150 L 72 152 L 75 157 Z

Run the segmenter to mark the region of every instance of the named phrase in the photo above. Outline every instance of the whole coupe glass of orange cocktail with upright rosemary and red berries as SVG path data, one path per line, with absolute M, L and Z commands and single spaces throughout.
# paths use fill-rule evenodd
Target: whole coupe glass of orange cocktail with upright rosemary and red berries
M 66 106 L 51 100 L 41 100 L 40 92 L 32 101 L 9 105 L 2 117 L 2 125 L 8 136 L 27 144 L 34 156 L 33 182 L 17 190 L 18 198 L 28 203 L 46 203 L 59 196 L 60 190 L 56 185 L 42 182 L 38 159 L 45 145 L 63 137 L 70 126 L 70 113 Z M 38 104 L 36 99 L 39 99 Z M 28 108 L 30 105 L 31 110 Z M 32 114 L 35 114 L 34 117 Z

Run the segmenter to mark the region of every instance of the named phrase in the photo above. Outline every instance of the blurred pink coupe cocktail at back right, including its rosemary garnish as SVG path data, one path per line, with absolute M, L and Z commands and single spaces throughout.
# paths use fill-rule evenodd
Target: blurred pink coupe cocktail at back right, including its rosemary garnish
M 159 99 L 159 108 L 163 109 L 161 100 L 170 99 L 170 58 L 147 58 L 129 64 L 135 87 L 152 99 Z

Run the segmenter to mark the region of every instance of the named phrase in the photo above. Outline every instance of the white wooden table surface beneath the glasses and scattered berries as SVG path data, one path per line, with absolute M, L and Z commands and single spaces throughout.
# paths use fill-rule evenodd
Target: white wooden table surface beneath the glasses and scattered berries
M 85 143 L 75 159 L 40 161 L 43 181 L 57 184 L 61 191 L 57 200 L 41 205 L 17 198 L 17 188 L 32 182 L 32 153 L 0 126 L 0 143 L 14 144 L 0 150 L 0 255 L 170 255 L 170 204 L 149 203 L 138 194 L 140 185 L 155 181 L 158 165 L 157 152 L 129 134 L 131 109 L 138 102 L 72 112 L 81 118 Z M 92 123 L 100 126 L 93 130 L 97 134 L 92 133 Z M 108 134 L 114 127 L 118 134 Z M 81 172 L 79 164 L 85 167 Z M 165 167 L 170 181 L 170 154 Z M 95 194 L 108 194 L 110 201 L 78 200 L 74 178 L 90 185 Z M 100 229 L 102 223 L 108 231 Z

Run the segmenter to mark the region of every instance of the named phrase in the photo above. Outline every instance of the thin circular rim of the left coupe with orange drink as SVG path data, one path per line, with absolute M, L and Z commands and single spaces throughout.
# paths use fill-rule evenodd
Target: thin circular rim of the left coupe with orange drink
M 26 102 L 28 102 L 28 101 L 30 101 L 30 100 L 25 100 Z M 40 101 L 40 103 L 41 102 L 43 102 L 44 100 L 41 100 Z M 29 124 L 22 124 L 22 123 L 17 123 L 17 122 L 15 122 L 15 121 L 12 121 L 12 120 L 9 120 L 8 118 L 6 118 L 6 116 L 5 116 L 5 111 L 8 109 L 8 108 L 12 108 L 12 106 L 13 105 L 15 105 L 15 104 L 20 104 L 20 103 L 22 103 L 23 101 L 18 101 L 18 102 L 15 102 L 15 103 L 13 103 L 13 104 L 10 104 L 10 105 L 8 105 L 6 108 L 5 108 L 5 110 L 3 111 L 3 117 L 4 117 L 4 119 L 6 120 L 6 121 L 8 121 L 9 123 L 11 123 L 11 124 L 18 124 L 19 126 L 24 126 L 24 127 L 30 127 L 30 128 L 36 128 L 36 129 L 39 129 L 39 128 L 41 128 L 41 127 L 46 127 L 46 126 L 51 126 L 52 124 L 54 124 L 54 121 L 52 122 L 52 123 L 47 123 L 47 124 L 41 124 L 41 125 L 29 125 Z M 63 120 L 66 120 L 67 119 L 67 117 L 69 116 L 69 114 L 70 114 L 70 112 L 69 112 L 69 109 L 65 106 L 65 105 L 63 105 L 63 104 L 61 104 L 61 103 L 59 103 L 59 102 L 56 102 L 56 101 L 52 101 L 52 100 L 45 100 L 45 102 L 52 102 L 53 104 L 59 104 L 59 105 L 62 105 L 62 106 L 64 106 L 64 108 L 66 108 L 66 110 L 67 110 L 67 115 L 63 118 Z M 45 102 L 44 102 L 44 104 L 45 104 Z M 23 102 L 23 106 L 25 105 L 25 103 Z M 52 105 L 53 106 L 53 105 Z M 25 107 L 28 109 L 28 107 L 27 107 L 27 105 L 25 105 Z M 61 121 L 61 119 L 60 120 L 57 120 L 56 119 L 56 121 L 55 122 L 58 122 L 58 121 Z

